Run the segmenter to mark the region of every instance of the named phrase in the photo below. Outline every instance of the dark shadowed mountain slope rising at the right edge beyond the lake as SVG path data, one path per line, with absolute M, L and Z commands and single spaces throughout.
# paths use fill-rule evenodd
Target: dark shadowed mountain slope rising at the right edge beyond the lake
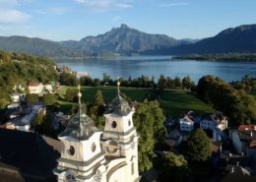
M 216 54 L 256 52 L 256 25 L 223 30 L 216 36 L 169 49 L 172 54 Z

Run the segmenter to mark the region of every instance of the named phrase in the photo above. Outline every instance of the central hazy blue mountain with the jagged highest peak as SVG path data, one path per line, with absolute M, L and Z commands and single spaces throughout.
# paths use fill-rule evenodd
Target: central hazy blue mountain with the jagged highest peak
M 109 51 L 116 53 L 141 53 L 158 51 L 180 44 L 189 44 L 190 40 L 177 40 L 164 34 L 150 34 L 131 29 L 126 25 L 114 28 L 104 34 L 87 36 L 80 41 L 68 40 L 61 45 L 75 50 L 91 52 Z

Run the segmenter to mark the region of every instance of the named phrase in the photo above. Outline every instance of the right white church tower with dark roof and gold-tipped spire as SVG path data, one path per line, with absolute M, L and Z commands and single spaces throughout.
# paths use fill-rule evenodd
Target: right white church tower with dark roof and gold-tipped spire
M 134 110 L 122 98 L 117 83 L 117 95 L 108 105 L 105 117 L 104 132 L 101 138 L 102 150 L 107 159 L 125 158 L 126 182 L 139 181 L 138 172 L 138 139 L 133 125 Z M 125 182 L 125 181 L 123 181 Z

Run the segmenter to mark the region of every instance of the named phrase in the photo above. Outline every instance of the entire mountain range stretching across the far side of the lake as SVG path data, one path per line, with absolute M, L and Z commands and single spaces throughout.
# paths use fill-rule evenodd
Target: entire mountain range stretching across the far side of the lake
M 175 39 L 122 24 L 119 28 L 80 40 L 52 41 L 19 35 L 0 36 L 0 49 L 49 57 L 251 53 L 256 52 L 256 24 L 228 28 L 200 40 Z

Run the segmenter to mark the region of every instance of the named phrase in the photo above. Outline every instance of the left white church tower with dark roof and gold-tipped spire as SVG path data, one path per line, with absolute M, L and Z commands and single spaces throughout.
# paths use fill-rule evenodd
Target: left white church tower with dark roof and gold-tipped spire
M 59 182 L 105 182 L 105 158 L 100 148 L 102 132 L 81 108 L 80 87 L 78 97 L 78 113 L 71 118 L 65 131 L 59 136 L 63 151 L 53 172 L 58 176 Z

